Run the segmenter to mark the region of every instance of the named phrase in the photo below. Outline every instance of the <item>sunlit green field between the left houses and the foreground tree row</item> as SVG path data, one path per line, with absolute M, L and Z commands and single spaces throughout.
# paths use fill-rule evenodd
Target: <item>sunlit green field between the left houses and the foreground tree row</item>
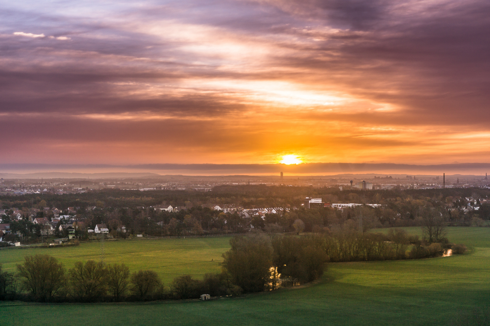
M 182 274 L 201 278 L 205 273 L 221 270 L 221 254 L 229 248 L 229 237 L 192 239 L 138 239 L 104 241 L 104 261 L 123 262 L 131 272 L 152 269 L 164 284 Z M 25 255 L 49 254 L 62 261 L 67 268 L 76 261 L 100 260 L 100 242 L 86 242 L 79 246 L 61 248 L 11 248 L 0 250 L 0 262 L 6 271 L 15 271 Z M 1 324 L 0 324 L 1 325 Z

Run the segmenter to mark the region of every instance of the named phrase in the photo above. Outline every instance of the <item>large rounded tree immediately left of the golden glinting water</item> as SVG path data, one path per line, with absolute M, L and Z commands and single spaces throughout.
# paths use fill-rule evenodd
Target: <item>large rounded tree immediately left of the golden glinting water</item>
M 230 239 L 231 249 L 223 256 L 223 271 L 245 292 L 263 291 L 270 282 L 272 246 L 263 235 Z

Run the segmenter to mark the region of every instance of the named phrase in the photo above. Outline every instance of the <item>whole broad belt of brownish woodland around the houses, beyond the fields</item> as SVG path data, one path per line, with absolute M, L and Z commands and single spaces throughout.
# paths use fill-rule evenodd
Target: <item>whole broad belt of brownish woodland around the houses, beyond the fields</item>
M 85 194 L 2 196 L 3 209 L 17 208 L 28 214 L 31 207 L 56 207 L 65 210 L 77 207 L 70 213 L 80 223 L 74 225 L 75 235 L 88 239 L 88 229 L 96 224 L 108 226 L 113 237 L 125 238 L 135 234 L 150 236 L 202 235 L 216 233 L 241 233 L 250 225 L 272 232 L 320 232 L 343 225 L 348 220 L 363 218 L 365 227 L 401 227 L 423 225 L 424 212 L 440 214 L 447 225 L 483 226 L 490 219 L 490 204 L 480 204 L 488 198 L 490 190 L 479 188 L 451 188 L 426 190 L 344 190 L 337 188 L 285 187 L 285 186 L 219 186 L 211 192 L 196 191 L 127 191 L 97 190 Z M 343 210 L 321 208 L 303 209 L 305 196 L 321 197 L 331 203 L 372 203 L 382 207 L 361 206 Z M 467 209 L 467 197 L 474 198 L 479 210 Z M 243 208 L 281 207 L 277 214 L 243 218 L 237 213 L 212 210 L 211 204 L 234 204 Z M 150 208 L 154 205 L 179 207 L 178 212 L 165 212 Z M 88 209 L 95 206 L 95 209 Z M 288 211 L 288 210 L 289 211 Z M 38 216 L 39 215 L 39 216 Z M 43 211 L 36 217 L 48 217 Z M 40 238 L 41 226 L 27 219 L 12 220 L 13 233 L 22 239 Z M 299 220 L 299 221 L 298 221 Z M 59 224 L 66 224 L 60 221 Z M 127 232 L 119 232 L 125 226 Z M 55 237 L 66 237 L 68 231 L 55 230 Z M 9 239 L 13 238 L 13 239 Z M 14 240 L 13 235 L 7 236 Z

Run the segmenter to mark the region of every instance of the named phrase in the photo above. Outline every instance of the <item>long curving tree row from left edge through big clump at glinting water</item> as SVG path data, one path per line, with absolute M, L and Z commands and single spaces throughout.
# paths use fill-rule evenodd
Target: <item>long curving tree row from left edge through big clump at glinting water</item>
M 270 290 L 311 282 L 323 274 L 328 260 L 316 237 L 283 237 L 256 234 L 230 239 L 231 249 L 223 254 L 221 273 L 208 273 L 202 280 L 190 275 L 175 278 L 165 288 L 152 270 L 130 273 L 123 263 L 78 261 L 66 269 L 49 255 L 25 256 L 18 274 L 0 273 L 2 298 L 17 293 L 40 302 L 121 301 L 189 299 L 206 293 L 212 296 Z M 15 287 L 15 293 L 12 292 Z M 8 295 L 10 296 L 8 296 Z

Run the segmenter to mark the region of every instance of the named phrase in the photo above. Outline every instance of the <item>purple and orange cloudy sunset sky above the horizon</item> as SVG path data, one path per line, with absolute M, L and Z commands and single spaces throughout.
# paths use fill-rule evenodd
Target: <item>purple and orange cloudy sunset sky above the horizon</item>
M 487 163 L 489 31 L 488 0 L 0 0 L 0 166 Z

